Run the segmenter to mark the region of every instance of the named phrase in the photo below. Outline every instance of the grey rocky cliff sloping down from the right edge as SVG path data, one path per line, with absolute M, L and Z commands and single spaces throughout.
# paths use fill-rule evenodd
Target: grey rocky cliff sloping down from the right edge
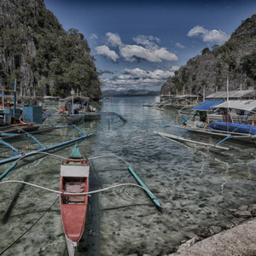
M 226 90 L 227 77 L 230 90 L 256 86 L 256 14 L 244 20 L 224 45 L 202 49 L 202 55 L 189 60 L 167 79 L 161 94 L 185 90 L 187 94 L 202 95 L 205 87 L 209 95 Z

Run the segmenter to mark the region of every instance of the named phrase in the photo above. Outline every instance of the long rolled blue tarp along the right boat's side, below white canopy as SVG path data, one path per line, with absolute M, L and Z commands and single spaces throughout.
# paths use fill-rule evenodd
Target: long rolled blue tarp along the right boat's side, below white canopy
M 233 124 L 225 122 L 212 122 L 209 125 L 210 129 L 219 131 L 234 131 L 244 134 L 256 134 L 256 127 L 251 125 Z

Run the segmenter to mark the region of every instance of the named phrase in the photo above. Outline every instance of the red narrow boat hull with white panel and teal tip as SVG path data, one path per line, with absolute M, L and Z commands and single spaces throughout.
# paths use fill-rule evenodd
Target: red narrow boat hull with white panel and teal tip
M 61 192 L 88 192 L 89 174 L 89 160 L 84 160 L 75 146 L 68 159 L 61 163 Z M 69 256 L 75 255 L 83 235 L 87 203 L 88 195 L 61 195 L 61 217 Z

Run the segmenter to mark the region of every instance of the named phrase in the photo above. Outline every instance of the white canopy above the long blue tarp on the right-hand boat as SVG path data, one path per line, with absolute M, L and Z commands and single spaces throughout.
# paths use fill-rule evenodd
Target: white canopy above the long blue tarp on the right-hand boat
M 246 110 L 249 112 L 256 112 L 256 100 L 227 101 L 227 102 L 218 104 L 217 106 L 214 106 L 214 108 L 235 108 L 235 109 Z

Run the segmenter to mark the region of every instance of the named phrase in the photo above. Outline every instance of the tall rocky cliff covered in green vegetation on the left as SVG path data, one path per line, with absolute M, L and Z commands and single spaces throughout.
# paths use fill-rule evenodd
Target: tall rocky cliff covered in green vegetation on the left
M 65 32 L 44 0 L 0 0 L 0 88 L 21 96 L 61 95 L 81 90 L 102 98 L 90 48 L 83 35 Z

